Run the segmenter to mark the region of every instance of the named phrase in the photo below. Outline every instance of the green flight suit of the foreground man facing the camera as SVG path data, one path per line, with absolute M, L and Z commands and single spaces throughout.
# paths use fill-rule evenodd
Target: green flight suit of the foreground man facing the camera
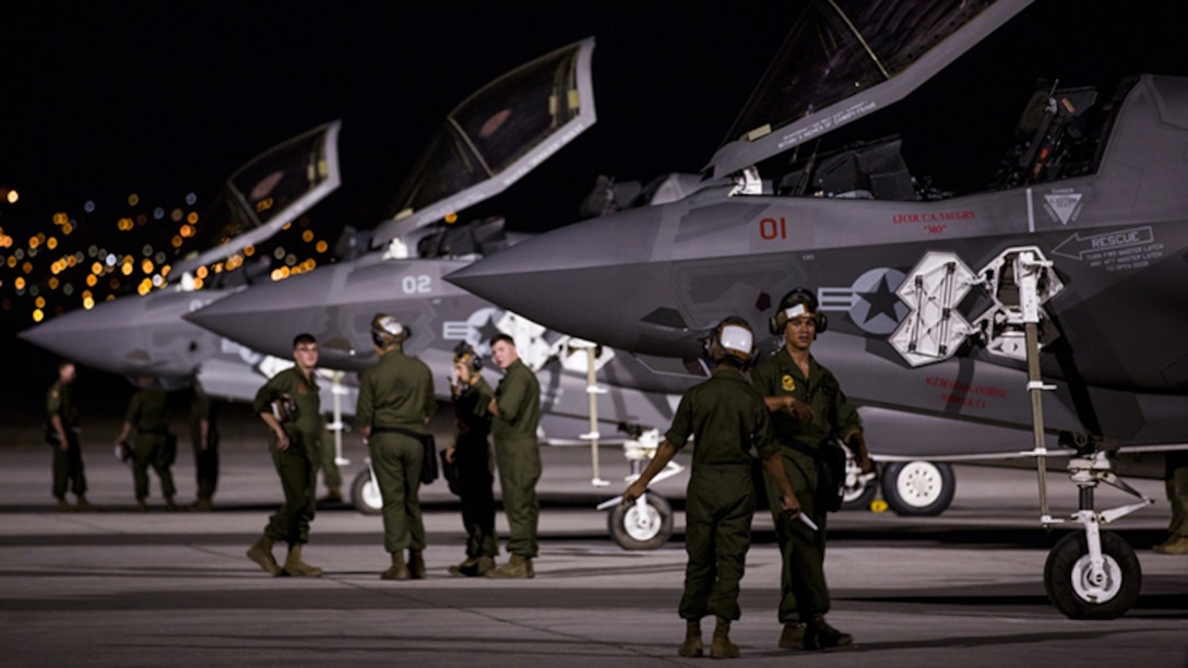
M 751 371 L 751 383 L 764 397 L 791 395 L 813 408 L 813 421 L 803 422 L 781 410 L 772 414 L 776 440 L 781 446 L 784 470 L 801 502 L 801 512 L 819 527 L 808 528 L 800 519 L 789 518 L 779 511 L 779 487 L 764 472 L 767 499 L 772 504 L 771 516 L 776 523 L 776 537 L 783 557 L 781 573 L 782 595 L 779 620 L 782 623 L 807 620 L 811 615 L 829 611 L 829 587 L 824 579 L 824 509 L 817 509 L 817 470 L 813 455 L 795 449 L 794 445 L 816 450 L 822 441 L 845 437 L 861 428 L 858 410 L 846 399 L 838 379 L 828 368 L 809 358 L 809 378 L 792 361 L 786 348 L 764 358 Z

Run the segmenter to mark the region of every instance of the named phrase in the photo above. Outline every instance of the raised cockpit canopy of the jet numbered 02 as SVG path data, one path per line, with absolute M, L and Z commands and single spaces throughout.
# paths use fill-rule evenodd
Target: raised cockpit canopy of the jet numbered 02
M 498 195 L 594 125 L 594 38 L 492 81 L 446 118 L 397 191 L 375 247 Z

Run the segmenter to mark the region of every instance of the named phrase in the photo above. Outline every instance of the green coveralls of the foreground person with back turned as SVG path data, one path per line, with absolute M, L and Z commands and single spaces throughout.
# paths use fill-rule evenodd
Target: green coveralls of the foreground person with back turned
M 677 612 L 689 620 L 738 619 L 739 582 L 757 504 L 751 449 L 763 459 L 778 452 L 771 416 L 741 371 L 719 370 L 681 397 L 664 439 L 683 448 L 690 435 L 684 540 L 689 561 Z

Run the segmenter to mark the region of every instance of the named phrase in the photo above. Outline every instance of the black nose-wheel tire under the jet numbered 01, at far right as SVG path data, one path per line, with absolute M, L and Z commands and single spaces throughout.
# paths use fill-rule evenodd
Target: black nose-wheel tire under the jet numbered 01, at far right
M 1126 541 L 1101 531 L 1105 578 L 1101 586 L 1089 581 L 1089 546 L 1085 531 L 1061 538 L 1048 553 L 1043 586 L 1048 598 L 1069 619 L 1117 619 L 1138 600 L 1143 567 Z

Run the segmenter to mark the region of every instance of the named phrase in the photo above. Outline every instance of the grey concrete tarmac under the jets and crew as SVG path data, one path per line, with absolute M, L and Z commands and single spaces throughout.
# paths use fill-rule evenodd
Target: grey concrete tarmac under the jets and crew
M 248 431 L 244 431 L 247 434 Z M 106 435 L 106 430 L 102 431 Z M 114 431 L 113 431 L 114 435 Z M 12 442 L 17 441 L 17 442 Z M 175 478 L 192 499 L 185 437 Z M 441 442 L 441 441 L 440 441 Z M 89 498 L 100 512 L 55 512 L 50 453 L 36 437 L 0 440 L 0 663 L 4 666 L 663 666 L 682 658 L 676 615 L 684 569 L 685 475 L 657 491 L 676 534 L 652 552 L 620 549 L 594 505 L 618 494 L 627 466 L 600 450 L 609 487 L 589 483 L 589 450 L 544 448 L 536 578 L 451 578 L 465 556 L 456 498 L 423 489 L 429 578 L 391 582 L 378 516 L 348 506 L 314 521 L 307 561 L 318 579 L 270 578 L 245 556 L 280 490 L 263 440 L 221 448 L 213 512 L 165 512 L 156 477 L 148 512 L 132 512 L 132 480 L 102 439 L 84 439 Z M 347 483 L 364 448 L 348 439 Z M 682 455 L 683 456 L 683 455 Z M 680 459 L 678 459 L 680 461 Z M 1048 600 L 1048 549 L 1068 529 L 1037 522 L 1035 473 L 959 466 L 941 517 L 842 511 L 830 517 L 829 622 L 855 644 L 828 651 L 776 647 L 779 560 L 771 518 L 756 516 L 731 637 L 747 666 L 1188 666 L 1188 556 L 1154 554 L 1169 511 L 1159 480 L 1130 480 L 1156 505 L 1117 530 L 1138 552 L 1137 605 L 1107 622 L 1066 618 Z M 1060 474 L 1054 515 L 1075 509 Z M 1099 508 L 1129 497 L 1099 492 Z M 506 536 L 499 515 L 498 528 Z M 284 548 L 278 546 L 280 559 Z M 713 620 L 703 623 L 707 641 Z M 708 644 L 708 643 L 707 643 Z

